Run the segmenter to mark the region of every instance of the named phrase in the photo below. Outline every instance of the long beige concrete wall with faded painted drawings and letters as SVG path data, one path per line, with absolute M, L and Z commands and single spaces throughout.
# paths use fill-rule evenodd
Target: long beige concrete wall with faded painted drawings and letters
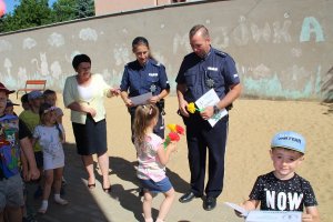
M 61 91 L 73 74 L 77 53 L 92 59 L 93 72 L 119 85 L 123 67 L 134 59 L 131 41 L 149 39 L 165 64 L 171 87 L 188 32 L 203 23 L 212 44 L 236 61 L 243 95 L 315 99 L 332 97 L 333 0 L 234 0 L 170 4 L 0 36 L 0 81 L 12 89 L 27 79 L 48 79 Z M 330 72 L 331 70 L 331 72 Z

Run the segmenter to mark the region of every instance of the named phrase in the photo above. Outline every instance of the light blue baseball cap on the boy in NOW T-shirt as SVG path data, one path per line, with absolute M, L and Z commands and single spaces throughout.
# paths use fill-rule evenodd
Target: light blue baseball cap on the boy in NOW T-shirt
M 305 153 L 305 139 L 293 131 L 282 131 L 274 135 L 271 148 L 285 148 L 301 153 Z

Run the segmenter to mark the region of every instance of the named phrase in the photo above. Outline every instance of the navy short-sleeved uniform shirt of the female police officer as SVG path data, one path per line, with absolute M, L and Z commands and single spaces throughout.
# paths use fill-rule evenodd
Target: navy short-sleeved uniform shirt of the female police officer
M 137 97 L 148 92 L 158 95 L 164 89 L 170 89 L 170 85 L 163 64 L 149 59 L 143 67 L 138 60 L 125 65 L 120 90 L 129 90 L 129 97 Z

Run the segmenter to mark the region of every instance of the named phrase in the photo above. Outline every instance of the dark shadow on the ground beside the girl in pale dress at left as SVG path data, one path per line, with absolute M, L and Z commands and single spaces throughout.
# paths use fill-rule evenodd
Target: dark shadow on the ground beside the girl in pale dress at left
M 83 169 L 81 158 L 77 154 L 75 144 L 65 143 L 63 145 L 65 155 L 64 178 L 64 199 L 69 201 L 68 205 L 59 205 L 53 201 L 53 193 L 49 198 L 49 208 L 46 214 L 37 214 L 38 222 L 63 222 L 63 221 L 108 221 L 103 214 L 99 203 L 93 198 L 91 191 L 87 188 L 87 173 Z M 33 194 L 37 189 L 37 183 L 29 182 L 28 205 L 30 212 L 37 212 L 41 199 L 34 199 Z

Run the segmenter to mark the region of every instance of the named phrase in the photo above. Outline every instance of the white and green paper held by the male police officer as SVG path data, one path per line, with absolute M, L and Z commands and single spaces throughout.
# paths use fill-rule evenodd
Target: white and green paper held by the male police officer
M 220 101 L 219 95 L 216 94 L 214 89 L 211 89 L 206 93 L 204 93 L 199 100 L 195 101 L 195 104 L 199 109 L 204 109 L 209 105 L 214 105 Z M 221 120 L 224 115 L 228 114 L 225 109 L 220 110 L 216 114 L 211 117 L 208 121 L 212 125 L 212 128 L 216 124 L 219 120 Z

